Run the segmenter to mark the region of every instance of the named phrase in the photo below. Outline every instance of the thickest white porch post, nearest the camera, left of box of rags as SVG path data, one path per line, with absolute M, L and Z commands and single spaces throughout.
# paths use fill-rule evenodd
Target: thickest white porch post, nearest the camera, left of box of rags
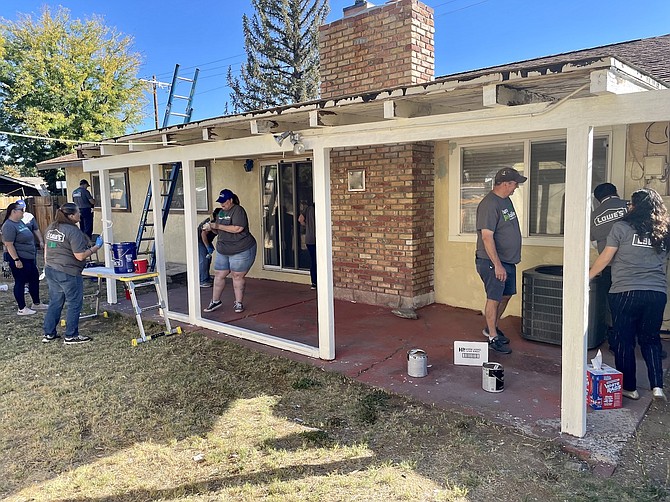
M 593 127 L 568 128 L 563 239 L 561 432 L 586 434 L 586 350 Z M 567 294 L 569 292 L 569 294 Z

